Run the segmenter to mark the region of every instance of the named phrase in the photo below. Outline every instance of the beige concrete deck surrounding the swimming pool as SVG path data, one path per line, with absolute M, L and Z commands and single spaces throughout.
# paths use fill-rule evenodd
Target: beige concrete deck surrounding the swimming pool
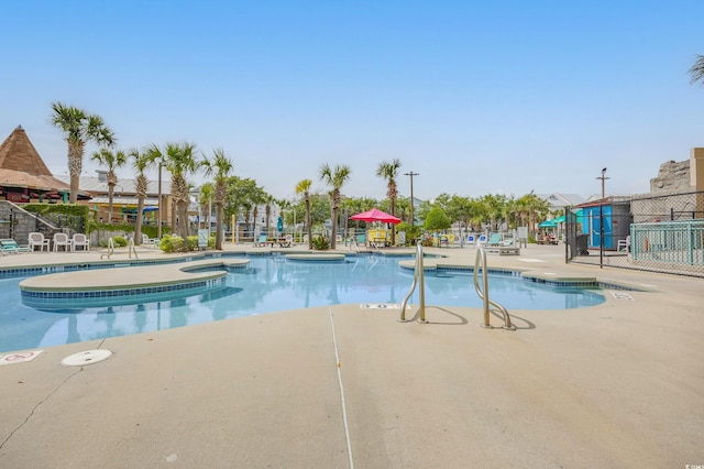
M 471 248 L 426 252 L 474 264 Z M 99 258 L 37 252 L 0 268 Z M 474 308 L 428 307 L 421 325 L 339 305 L 47 347 L 0 367 L 0 466 L 704 465 L 703 280 L 565 265 L 554 246 L 487 261 L 648 291 L 605 292 L 583 309 L 513 309 L 516 331 L 479 327 Z M 59 363 L 98 348 L 113 356 Z

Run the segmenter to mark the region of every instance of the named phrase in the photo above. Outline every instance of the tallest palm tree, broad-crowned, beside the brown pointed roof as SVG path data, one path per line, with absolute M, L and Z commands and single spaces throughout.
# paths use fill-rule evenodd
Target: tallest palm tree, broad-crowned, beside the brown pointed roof
M 76 204 L 86 144 L 92 141 L 99 145 L 112 146 L 116 138 L 98 114 L 88 114 L 82 109 L 66 106 L 59 101 L 52 102 L 52 111 L 51 123 L 65 133 L 64 140 L 68 144 L 68 174 L 70 175 L 68 201 Z

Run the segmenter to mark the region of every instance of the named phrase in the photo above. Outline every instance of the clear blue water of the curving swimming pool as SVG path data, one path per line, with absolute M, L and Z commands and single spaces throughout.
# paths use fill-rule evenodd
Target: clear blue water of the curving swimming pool
M 341 262 L 287 260 L 255 255 L 249 265 L 231 269 L 223 287 L 174 299 L 40 310 L 26 306 L 19 283 L 0 279 L 0 352 L 48 347 L 182 327 L 212 320 L 336 304 L 399 304 L 413 271 L 404 258 L 358 255 Z M 405 258 L 410 259 L 410 258 Z M 598 290 L 560 287 L 517 276 L 491 275 L 490 296 L 512 309 L 573 309 L 604 302 Z M 418 294 L 411 304 L 418 302 Z M 426 274 L 426 304 L 482 307 L 469 271 L 438 270 Z

